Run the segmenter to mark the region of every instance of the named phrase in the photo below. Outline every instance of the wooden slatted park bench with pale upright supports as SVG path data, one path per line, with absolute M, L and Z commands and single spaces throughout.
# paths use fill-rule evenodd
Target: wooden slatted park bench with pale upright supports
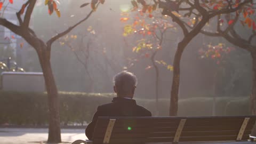
M 99 117 L 92 141 L 72 144 L 252 143 L 256 116 Z

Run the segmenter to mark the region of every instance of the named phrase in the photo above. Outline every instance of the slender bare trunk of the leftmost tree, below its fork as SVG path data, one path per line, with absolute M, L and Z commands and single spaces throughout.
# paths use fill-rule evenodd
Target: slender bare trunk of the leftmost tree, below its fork
M 46 49 L 46 47 L 44 48 Z M 47 142 L 59 143 L 61 142 L 61 135 L 58 90 L 52 73 L 50 52 L 46 51 L 45 49 L 38 52 L 38 57 L 43 70 L 44 81 L 48 95 L 48 108 L 50 116 Z

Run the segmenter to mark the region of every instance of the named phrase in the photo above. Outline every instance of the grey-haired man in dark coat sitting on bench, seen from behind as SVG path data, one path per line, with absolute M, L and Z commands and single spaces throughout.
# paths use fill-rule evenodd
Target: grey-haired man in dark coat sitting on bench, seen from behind
M 151 116 L 146 108 L 136 104 L 133 100 L 137 78 L 128 71 L 122 71 L 114 77 L 114 91 L 117 94 L 112 103 L 101 105 L 97 108 L 92 122 L 86 127 L 85 134 L 92 140 L 93 130 L 99 116 Z

